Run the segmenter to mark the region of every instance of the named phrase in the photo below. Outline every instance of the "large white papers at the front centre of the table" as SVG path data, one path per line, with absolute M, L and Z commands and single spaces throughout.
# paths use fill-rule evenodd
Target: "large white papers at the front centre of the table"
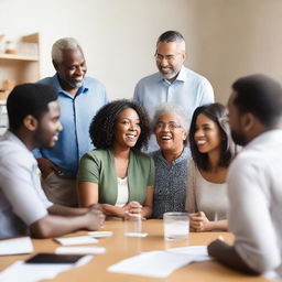
M 122 260 L 107 270 L 110 272 L 166 278 L 174 270 L 193 261 L 210 260 L 206 252 L 206 246 L 185 247 L 164 251 L 149 251 L 139 256 Z

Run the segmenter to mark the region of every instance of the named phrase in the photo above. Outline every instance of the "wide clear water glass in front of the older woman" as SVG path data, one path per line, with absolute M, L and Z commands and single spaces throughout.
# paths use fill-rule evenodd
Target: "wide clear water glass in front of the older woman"
M 164 213 L 163 215 L 164 239 L 166 241 L 181 241 L 188 239 L 189 216 L 188 213 Z

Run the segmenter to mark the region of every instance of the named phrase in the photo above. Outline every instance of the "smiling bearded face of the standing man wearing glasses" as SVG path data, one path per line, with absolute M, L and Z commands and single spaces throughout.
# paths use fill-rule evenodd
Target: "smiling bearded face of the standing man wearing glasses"
M 173 82 L 178 75 L 185 61 L 185 52 L 181 50 L 177 42 L 160 42 L 155 51 L 155 63 L 163 75 L 170 82 Z

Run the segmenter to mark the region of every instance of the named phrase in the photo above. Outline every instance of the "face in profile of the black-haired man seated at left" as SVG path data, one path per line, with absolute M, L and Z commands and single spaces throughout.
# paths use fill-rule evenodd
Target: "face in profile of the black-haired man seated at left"
M 59 122 L 59 106 L 57 101 L 48 104 L 46 112 L 39 121 L 39 128 L 34 132 L 34 143 L 37 148 L 52 148 L 58 139 L 58 132 L 63 127 Z

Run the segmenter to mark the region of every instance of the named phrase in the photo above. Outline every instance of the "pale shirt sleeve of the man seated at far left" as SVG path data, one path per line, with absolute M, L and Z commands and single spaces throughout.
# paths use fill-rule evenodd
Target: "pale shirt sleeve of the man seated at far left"
M 12 152 L 1 162 L 0 178 L 1 188 L 18 215 L 28 226 L 47 215 L 46 203 L 34 187 L 34 175 L 26 159 L 20 153 Z M 37 180 L 39 181 L 39 180 Z

